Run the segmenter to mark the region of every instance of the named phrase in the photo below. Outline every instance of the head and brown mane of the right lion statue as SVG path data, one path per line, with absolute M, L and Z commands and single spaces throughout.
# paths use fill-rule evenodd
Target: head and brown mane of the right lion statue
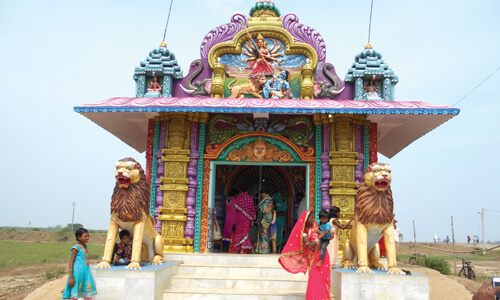
M 363 174 L 356 194 L 355 214 L 363 224 L 387 224 L 394 219 L 391 166 L 371 164 Z

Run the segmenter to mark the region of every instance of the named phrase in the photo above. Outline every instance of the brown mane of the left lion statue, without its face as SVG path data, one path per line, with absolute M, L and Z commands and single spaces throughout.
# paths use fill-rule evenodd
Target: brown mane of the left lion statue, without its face
M 140 180 L 136 184 L 131 183 L 128 188 L 121 188 L 116 183 L 113 196 L 111 196 L 111 214 L 117 214 L 120 220 L 125 222 L 140 221 L 143 213 L 149 215 L 151 188 L 146 180 L 144 170 L 138 162 L 130 157 L 120 161 L 137 163 Z

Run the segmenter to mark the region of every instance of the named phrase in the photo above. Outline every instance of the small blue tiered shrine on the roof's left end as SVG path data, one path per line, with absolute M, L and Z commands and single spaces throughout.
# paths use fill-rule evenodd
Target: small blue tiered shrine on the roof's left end
M 181 67 L 175 54 L 163 42 L 158 49 L 149 52 L 146 61 L 135 68 L 136 97 L 172 97 L 173 80 L 182 79 Z

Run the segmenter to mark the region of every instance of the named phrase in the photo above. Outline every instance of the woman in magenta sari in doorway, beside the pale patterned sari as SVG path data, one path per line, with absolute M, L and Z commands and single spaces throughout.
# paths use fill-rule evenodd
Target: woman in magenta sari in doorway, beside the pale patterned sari
M 252 243 L 248 233 L 252 227 L 253 219 L 255 219 L 255 207 L 253 198 L 246 192 L 242 192 L 233 200 L 234 208 L 236 209 L 236 226 L 234 233 L 234 252 L 241 254 L 245 250 L 252 249 Z

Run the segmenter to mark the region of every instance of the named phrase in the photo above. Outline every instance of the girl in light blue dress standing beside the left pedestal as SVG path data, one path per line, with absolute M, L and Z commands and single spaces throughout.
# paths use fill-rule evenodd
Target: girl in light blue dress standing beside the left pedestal
M 71 248 L 69 259 L 69 277 L 64 289 L 63 299 L 92 299 L 97 295 L 94 279 L 89 269 L 89 251 L 86 244 L 89 242 L 89 232 L 79 228 L 75 232 L 76 245 Z

